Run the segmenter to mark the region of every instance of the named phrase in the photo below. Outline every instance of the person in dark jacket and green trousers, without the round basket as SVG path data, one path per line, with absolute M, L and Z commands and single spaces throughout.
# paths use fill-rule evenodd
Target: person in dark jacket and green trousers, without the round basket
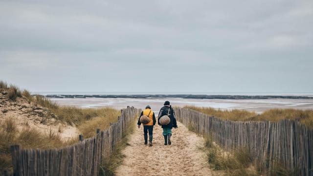
M 168 145 L 171 145 L 172 144 L 172 142 L 171 142 L 172 128 L 176 129 L 176 128 L 178 128 L 178 126 L 177 126 L 177 122 L 176 122 L 175 111 L 170 106 L 169 101 L 166 101 L 164 103 L 164 107 L 162 107 L 160 109 L 160 112 L 158 113 L 158 118 L 157 118 L 157 124 L 158 125 L 161 125 L 159 120 L 163 115 L 168 115 L 171 119 L 169 124 L 161 126 L 163 129 L 164 145 L 167 145 L 167 141 L 168 141 Z

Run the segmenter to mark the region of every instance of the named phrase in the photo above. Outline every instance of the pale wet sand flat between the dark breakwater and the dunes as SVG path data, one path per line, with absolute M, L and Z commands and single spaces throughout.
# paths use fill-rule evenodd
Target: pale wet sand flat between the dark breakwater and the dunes
M 158 110 L 162 107 L 164 101 L 168 100 L 173 106 L 198 106 L 212 107 L 224 110 L 244 109 L 256 111 L 258 113 L 272 108 L 282 109 L 313 109 L 313 100 L 308 99 L 256 99 L 256 100 L 227 100 L 227 99 L 183 99 L 183 98 L 51 98 L 59 105 L 76 106 L 80 108 L 100 108 L 112 107 L 123 109 L 127 106 L 135 108 L 145 108 L 150 105 L 152 109 Z

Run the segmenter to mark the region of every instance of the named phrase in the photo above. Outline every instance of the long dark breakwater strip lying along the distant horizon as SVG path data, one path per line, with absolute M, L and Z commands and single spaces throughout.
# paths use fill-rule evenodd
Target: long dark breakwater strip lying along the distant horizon
M 45 95 L 48 98 L 185 98 L 185 99 L 313 99 L 310 96 L 284 95 L 191 95 L 191 94 L 156 94 L 156 95 Z

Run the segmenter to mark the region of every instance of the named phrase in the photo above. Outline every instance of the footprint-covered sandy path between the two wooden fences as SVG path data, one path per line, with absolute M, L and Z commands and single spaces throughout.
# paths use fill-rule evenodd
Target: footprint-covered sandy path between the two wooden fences
M 143 129 L 136 128 L 123 154 L 123 164 L 116 170 L 117 176 L 212 176 L 204 154 L 197 149 L 203 138 L 178 122 L 173 129 L 172 145 L 164 146 L 162 129 L 154 128 L 153 146 L 144 145 Z M 144 152 L 147 151 L 147 152 Z

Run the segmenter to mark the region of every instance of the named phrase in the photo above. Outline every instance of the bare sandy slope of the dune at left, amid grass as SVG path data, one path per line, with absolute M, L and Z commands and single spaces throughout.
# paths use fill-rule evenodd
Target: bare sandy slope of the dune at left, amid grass
M 66 140 L 78 135 L 76 127 L 63 124 L 56 120 L 57 116 L 47 108 L 33 103 L 28 103 L 24 98 L 17 98 L 11 101 L 8 98 L 6 89 L 0 89 L 0 122 L 6 119 L 13 119 L 18 129 L 35 128 L 41 132 L 59 133 L 61 138 Z

